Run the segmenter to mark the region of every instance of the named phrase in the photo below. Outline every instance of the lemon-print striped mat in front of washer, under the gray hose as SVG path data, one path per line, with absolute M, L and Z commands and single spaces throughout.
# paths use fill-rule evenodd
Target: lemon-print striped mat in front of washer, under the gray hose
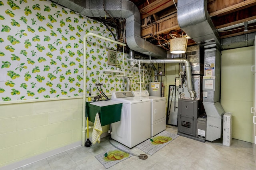
M 116 145 L 118 148 L 120 148 L 121 150 L 125 150 L 127 152 L 131 152 L 130 150 L 128 150 L 127 148 L 124 148 L 124 146 L 122 145 Z M 106 150 L 106 152 L 99 154 L 97 156 L 95 156 L 96 159 L 98 159 L 98 161 L 100 161 L 100 163 L 106 168 L 110 168 L 111 166 L 126 160 L 127 158 L 131 157 L 132 154 L 128 154 L 126 152 L 123 152 L 121 150 L 118 150 L 117 148 L 115 148 L 114 146 L 112 146 L 111 149 Z

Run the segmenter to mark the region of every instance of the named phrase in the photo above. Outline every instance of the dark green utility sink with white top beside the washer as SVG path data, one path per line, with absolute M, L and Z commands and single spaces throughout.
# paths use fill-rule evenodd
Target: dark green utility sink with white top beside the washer
M 122 102 L 107 100 L 86 102 L 86 113 L 89 121 L 94 123 L 96 113 L 99 113 L 101 126 L 120 121 Z

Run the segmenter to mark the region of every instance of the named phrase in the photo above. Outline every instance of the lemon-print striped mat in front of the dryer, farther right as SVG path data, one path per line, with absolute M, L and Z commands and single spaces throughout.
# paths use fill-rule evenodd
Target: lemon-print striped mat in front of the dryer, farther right
M 178 136 L 178 134 L 172 134 L 164 130 L 156 136 L 153 136 L 152 138 L 138 144 L 136 147 L 147 154 L 153 155 L 158 150 L 166 146 L 168 143 L 172 142 L 172 140 L 174 140 Z

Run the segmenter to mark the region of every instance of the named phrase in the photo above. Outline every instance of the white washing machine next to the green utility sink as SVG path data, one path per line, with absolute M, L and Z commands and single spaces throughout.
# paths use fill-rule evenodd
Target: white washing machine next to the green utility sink
M 123 103 L 121 120 L 111 124 L 111 138 L 132 148 L 150 138 L 150 99 L 134 97 L 131 91 L 112 93 Z

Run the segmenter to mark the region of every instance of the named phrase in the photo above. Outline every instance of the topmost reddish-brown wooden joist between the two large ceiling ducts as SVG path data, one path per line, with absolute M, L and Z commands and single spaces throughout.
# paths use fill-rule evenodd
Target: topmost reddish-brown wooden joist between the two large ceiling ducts
M 174 0 L 174 2 L 177 3 L 177 0 Z M 140 18 L 143 20 L 144 18 L 156 14 L 172 5 L 174 5 L 173 0 L 156 0 L 140 9 Z

